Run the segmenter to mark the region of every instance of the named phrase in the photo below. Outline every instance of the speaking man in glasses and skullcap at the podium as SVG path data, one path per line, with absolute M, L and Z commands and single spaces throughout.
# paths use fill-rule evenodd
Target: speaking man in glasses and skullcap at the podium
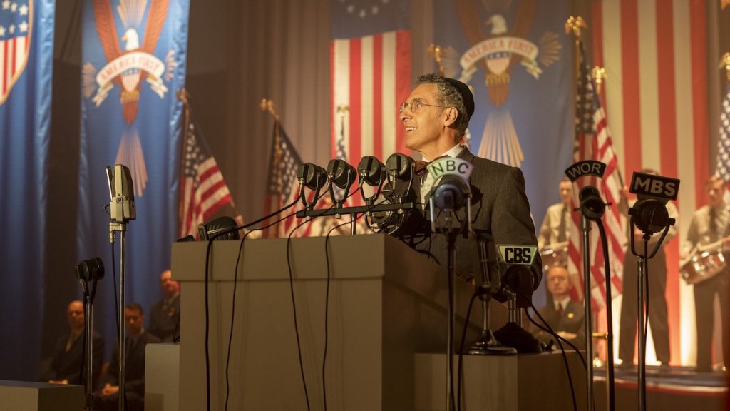
M 466 84 L 440 75 L 420 76 L 407 102 L 400 105 L 400 119 L 406 132 L 405 146 L 420 152 L 424 162 L 440 157 L 458 157 L 470 162 L 473 166 L 470 188 L 475 233 L 491 236 L 494 244 L 536 246 L 522 171 L 476 157 L 460 143 L 474 110 L 474 97 Z M 416 179 L 419 180 L 414 183 L 416 195 L 420 190 L 420 200 L 426 204 L 433 178 L 426 173 Z M 466 224 L 464 208 L 457 216 Z M 481 278 L 477 241 L 473 237 L 458 235 L 456 238 L 456 274 L 462 278 Z M 445 235 L 432 234 L 416 248 L 429 252 L 437 263 L 447 265 Z M 524 281 L 529 283 L 526 286 L 531 286 L 531 290 L 542 278 L 540 265 L 538 256 L 531 267 L 531 278 Z

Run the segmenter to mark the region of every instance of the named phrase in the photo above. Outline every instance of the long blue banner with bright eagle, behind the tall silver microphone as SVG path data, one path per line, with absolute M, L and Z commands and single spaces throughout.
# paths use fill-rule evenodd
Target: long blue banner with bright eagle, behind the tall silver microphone
M 96 298 L 96 325 L 110 355 L 116 338 L 112 268 L 119 281 L 119 241 L 110 254 L 105 167 L 129 167 L 137 219 L 126 232 L 126 301 L 145 310 L 161 297 L 159 275 L 170 266 L 177 230 L 180 132 L 188 45 L 186 0 L 85 1 L 77 250 L 101 257 L 107 276 Z

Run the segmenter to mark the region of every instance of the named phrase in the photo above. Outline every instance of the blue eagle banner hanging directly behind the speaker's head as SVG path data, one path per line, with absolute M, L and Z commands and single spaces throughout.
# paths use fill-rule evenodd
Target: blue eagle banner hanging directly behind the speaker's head
M 566 0 L 456 0 L 434 23 L 445 74 L 475 93 L 471 150 L 523 170 L 536 230 L 572 162 L 569 16 Z M 542 301 L 535 293 L 536 306 Z

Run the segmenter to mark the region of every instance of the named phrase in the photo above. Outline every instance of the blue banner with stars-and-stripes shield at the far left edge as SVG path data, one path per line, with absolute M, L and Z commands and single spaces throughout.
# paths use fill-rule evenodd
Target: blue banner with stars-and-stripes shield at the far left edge
M 39 369 L 45 204 L 55 1 L 0 7 L 0 379 L 33 380 Z M 10 27 L 14 27 L 12 32 Z M 23 40 L 22 38 L 25 38 Z M 28 44 L 28 53 L 22 46 Z M 14 45 L 11 45 L 15 42 Z M 20 57 L 22 56 L 22 57 Z M 4 63 L 4 65 L 3 65 Z M 15 80 L 13 80 L 15 79 Z M 8 81 L 9 80 L 9 81 Z

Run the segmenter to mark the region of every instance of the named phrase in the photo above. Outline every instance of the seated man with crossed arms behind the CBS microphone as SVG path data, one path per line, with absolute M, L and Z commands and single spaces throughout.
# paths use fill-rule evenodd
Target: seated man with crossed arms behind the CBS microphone
M 583 304 L 576 303 L 570 298 L 570 282 L 568 271 L 562 265 L 553 265 L 545 276 L 548 282 L 548 304 L 537 309 L 542 318 L 548 322 L 558 336 L 568 340 L 578 350 L 585 349 L 585 311 Z M 538 318 L 534 319 L 541 323 Z M 542 325 L 542 324 L 541 324 Z M 546 327 L 547 328 L 547 327 Z M 545 331 L 534 332 L 535 337 L 548 344 L 554 336 Z M 567 344 L 563 344 L 569 348 Z

